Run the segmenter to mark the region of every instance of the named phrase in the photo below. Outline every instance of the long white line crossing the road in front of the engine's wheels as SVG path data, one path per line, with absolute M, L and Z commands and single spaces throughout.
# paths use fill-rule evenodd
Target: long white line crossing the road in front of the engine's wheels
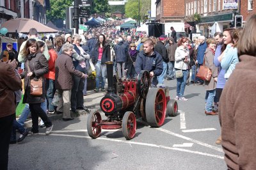
M 40 133 L 40 134 L 45 135 L 43 133 Z M 50 135 L 65 136 L 65 137 L 79 137 L 79 138 L 91 139 L 91 137 L 89 137 L 89 136 L 82 136 L 82 135 L 67 135 L 67 134 L 50 134 Z M 204 156 L 207 156 L 207 157 L 214 157 L 214 158 L 224 159 L 224 157 L 222 157 L 220 155 L 213 155 L 213 154 L 204 153 L 204 152 L 201 152 L 201 151 L 192 151 L 192 150 L 186 150 L 186 149 L 182 149 L 182 148 L 173 148 L 173 147 L 170 147 L 170 146 L 163 146 L 163 145 L 157 145 L 157 144 L 138 143 L 138 142 L 133 142 L 133 141 L 122 141 L 122 140 L 118 140 L 118 139 L 109 139 L 109 138 L 104 138 L 104 137 L 99 137 L 99 138 L 97 138 L 97 140 L 113 141 L 113 142 L 117 142 L 117 143 L 137 144 L 137 145 L 141 145 L 141 146 L 150 146 L 150 147 L 154 147 L 154 148 L 163 148 L 163 149 L 166 149 L 166 150 L 184 151 L 184 152 L 188 152 L 188 153 L 204 155 Z

